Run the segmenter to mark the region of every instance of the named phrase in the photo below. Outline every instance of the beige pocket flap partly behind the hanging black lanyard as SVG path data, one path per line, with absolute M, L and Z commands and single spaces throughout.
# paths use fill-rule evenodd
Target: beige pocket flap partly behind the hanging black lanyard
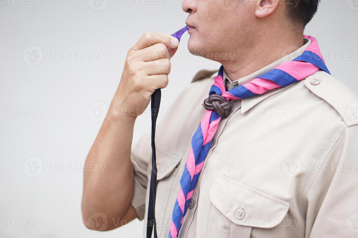
M 157 180 L 168 177 L 181 160 L 182 157 L 180 156 L 156 148 Z M 151 164 L 149 164 L 149 166 L 151 167 Z

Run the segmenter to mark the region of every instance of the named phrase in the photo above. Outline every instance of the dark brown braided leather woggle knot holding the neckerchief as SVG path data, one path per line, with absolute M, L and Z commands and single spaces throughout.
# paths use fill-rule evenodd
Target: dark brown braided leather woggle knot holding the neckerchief
M 204 100 L 203 106 L 206 110 L 215 111 L 221 117 L 227 117 L 230 115 L 232 102 L 221 95 L 212 94 Z

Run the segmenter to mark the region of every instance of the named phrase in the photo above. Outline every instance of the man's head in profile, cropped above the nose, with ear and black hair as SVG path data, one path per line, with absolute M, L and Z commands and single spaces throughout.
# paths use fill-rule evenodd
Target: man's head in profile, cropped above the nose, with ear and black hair
M 184 0 L 190 13 L 189 51 L 218 62 L 226 54 L 279 45 L 285 37 L 302 37 L 320 0 Z M 216 54 L 216 56 L 215 56 Z

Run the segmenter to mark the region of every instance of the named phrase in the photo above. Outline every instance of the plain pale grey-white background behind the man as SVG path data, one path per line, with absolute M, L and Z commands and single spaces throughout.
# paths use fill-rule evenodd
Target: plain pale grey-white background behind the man
M 116 90 L 127 50 L 146 31 L 171 34 L 182 28 L 187 14 L 178 0 L 103 0 L 97 8 L 94 1 L 0 0 L 0 237 L 142 236 L 139 221 L 103 233 L 84 227 L 79 166 L 101 126 L 101 108 L 105 111 Z M 356 93 L 357 22 L 357 0 L 323 1 L 305 30 L 317 37 L 331 73 Z M 197 71 L 219 68 L 190 55 L 188 38 L 183 36 L 172 59 L 163 108 Z M 42 61 L 29 61 L 28 52 L 39 49 L 33 46 L 40 47 L 42 54 L 35 55 Z M 91 60 L 52 58 L 72 51 L 89 53 Z M 105 55 L 104 61 L 93 60 L 95 53 Z M 136 122 L 134 142 L 149 128 L 147 113 Z M 29 172 L 32 157 L 38 157 L 37 174 Z M 38 229 L 16 226 L 22 219 L 41 223 Z

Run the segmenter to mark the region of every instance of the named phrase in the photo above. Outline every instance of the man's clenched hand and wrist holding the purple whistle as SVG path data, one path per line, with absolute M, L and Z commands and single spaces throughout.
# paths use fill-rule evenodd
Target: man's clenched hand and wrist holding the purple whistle
M 142 114 L 153 92 L 168 85 L 170 58 L 178 45 L 173 36 L 146 32 L 128 51 L 112 108 L 134 118 Z

